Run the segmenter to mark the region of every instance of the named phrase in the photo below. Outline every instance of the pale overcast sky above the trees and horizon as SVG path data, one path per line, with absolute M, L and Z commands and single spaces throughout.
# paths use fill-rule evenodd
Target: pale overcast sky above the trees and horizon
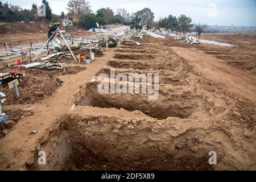
M 0 0 L 6 2 L 6 0 Z M 19 5 L 31 9 L 32 3 L 40 5 L 42 0 L 9 0 L 9 4 Z M 53 13 L 65 9 L 68 0 L 48 0 Z M 117 11 L 119 7 L 125 7 L 130 13 L 149 7 L 155 14 L 155 20 L 169 14 L 179 16 L 185 14 L 191 16 L 193 23 L 207 23 L 208 25 L 236 25 L 256 26 L 256 0 L 89 0 L 92 10 L 95 12 L 101 7 L 110 7 Z

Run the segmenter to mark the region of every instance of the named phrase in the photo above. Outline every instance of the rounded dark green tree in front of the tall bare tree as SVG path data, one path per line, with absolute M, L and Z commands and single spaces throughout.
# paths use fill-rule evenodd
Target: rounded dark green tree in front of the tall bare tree
M 98 17 L 94 14 L 86 14 L 82 15 L 79 20 L 79 26 L 89 30 L 90 28 L 96 27 L 96 23 L 98 22 Z

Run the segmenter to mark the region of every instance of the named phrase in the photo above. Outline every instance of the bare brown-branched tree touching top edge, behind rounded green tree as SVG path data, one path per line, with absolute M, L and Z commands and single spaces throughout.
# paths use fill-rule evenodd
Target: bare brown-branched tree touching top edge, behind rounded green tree
M 70 0 L 68 2 L 67 10 L 69 14 L 88 14 L 91 13 L 90 3 L 85 0 Z

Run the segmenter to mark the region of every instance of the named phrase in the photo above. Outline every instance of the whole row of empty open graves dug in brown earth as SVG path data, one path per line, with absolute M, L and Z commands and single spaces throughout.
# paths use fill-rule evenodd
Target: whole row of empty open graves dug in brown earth
M 80 86 L 73 111 L 60 117 L 56 126 L 40 139 L 34 157 L 26 163 L 27 169 L 256 169 L 255 152 L 251 147 L 256 140 L 253 131 L 241 123 L 223 119 L 227 118 L 233 101 L 226 102 L 215 91 L 205 89 L 203 78 L 195 76 L 191 67 L 177 55 L 164 53 L 161 56 L 163 64 L 169 61 L 174 69 L 177 67 L 172 57 L 176 57 L 180 60 L 179 68 L 138 70 L 130 69 L 127 64 L 124 69 L 119 64 L 119 61 L 123 63 L 122 59 L 126 63 L 140 61 L 142 65 L 147 61 L 129 52 L 122 53 L 121 59 L 116 61 L 117 67 L 122 68 L 116 69 L 117 73 L 126 76 L 133 72 L 158 72 L 158 100 L 148 100 L 148 94 L 141 92 L 99 93 L 98 80 Z M 106 67 L 99 73 L 109 76 L 110 69 Z M 175 74 L 178 82 L 164 79 Z M 118 80 L 115 81 L 116 88 Z M 122 88 L 130 84 L 123 82 Z M 39 151 L 46 151 L 46 165 L 38 165 Z M 217 152 L 217 165 L 209 164 L 210 151 Z

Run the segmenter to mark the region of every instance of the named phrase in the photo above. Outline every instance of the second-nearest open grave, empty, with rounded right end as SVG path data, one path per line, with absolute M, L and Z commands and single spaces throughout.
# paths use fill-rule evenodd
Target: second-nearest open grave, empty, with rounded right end
M 86 85 L 86 89 L 81 89 L 80 98 L 77 100 L 76 105 L 123 108 L 128 111 L 139 110 L 157 119 L 166 119 L 168 117 L 214 118 L 226 110 L 226 104 L 223 101 L 199 89 L 195 91 L 193 88 L 164 84 L 159 86 L 157 100 L 148 100 L 148 93 L 142 94 L 141 92 L 142 86 L 140 86 L 138 94 L 118 94 L 110 92 L 99 93 L 98 84 L 100 82 L 90 82 Z M 127 88 L 129 87 L 128 84 L 128 82 L 125 84 Z

